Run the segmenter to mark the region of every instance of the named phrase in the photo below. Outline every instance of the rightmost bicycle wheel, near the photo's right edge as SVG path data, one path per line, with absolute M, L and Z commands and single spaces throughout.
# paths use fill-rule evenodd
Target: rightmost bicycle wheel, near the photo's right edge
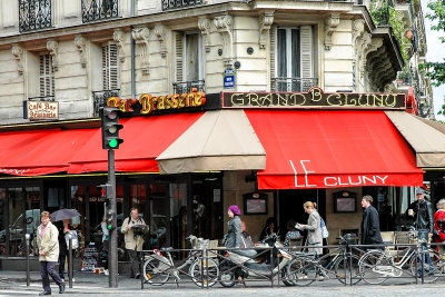
M 426 256 L 428 253 L 429 258 L 432 259 L 432 264 L 428 264 L 428 259 Z M 444 260 L 441 259 L 441 255 L 437 250 L 428 249 L 428 251 L 421 253 L 421 257 L 424 258 L 424 267 L 422 269 L 421 258 L 414 254 L 409 260 L 409 270 L 413 276 L 417 275 L 418 278 L 422 278 L 422 270 L 424 274 L 424 283 L 433 283 L 436 281 L 437 278 L 444 274 Z

